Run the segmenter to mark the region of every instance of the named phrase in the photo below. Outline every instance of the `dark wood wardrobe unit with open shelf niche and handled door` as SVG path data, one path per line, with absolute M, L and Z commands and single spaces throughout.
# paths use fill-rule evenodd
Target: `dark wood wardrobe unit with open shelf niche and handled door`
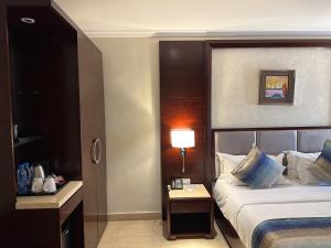
M 14 125 L 32 141 L 18 145 Z M 75 248 L 97 247 L 107 225 L 103 55 L 52 0 L 0 2 L 0 154 L 1 246 L 25 247 L 28 237 L 42 247 L 38 228 L 52 231 L 46 211 L 15 209 L 18 164 L 47 160 L 49 171 L 83 181 Z M 45 225 L 19 229 L 29 215 Z

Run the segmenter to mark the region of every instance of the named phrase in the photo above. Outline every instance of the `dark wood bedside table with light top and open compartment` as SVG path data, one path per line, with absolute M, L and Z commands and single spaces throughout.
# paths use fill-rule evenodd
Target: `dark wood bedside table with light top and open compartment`
M 167 238 L 214 238 L 214 203 L 203 184 L 167 194 Z

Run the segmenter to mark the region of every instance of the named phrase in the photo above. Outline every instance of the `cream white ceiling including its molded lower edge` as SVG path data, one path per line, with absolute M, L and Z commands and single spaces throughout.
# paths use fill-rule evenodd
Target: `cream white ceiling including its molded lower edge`
M 55 0 L 92 36 L 331 34 L 330 0 Z

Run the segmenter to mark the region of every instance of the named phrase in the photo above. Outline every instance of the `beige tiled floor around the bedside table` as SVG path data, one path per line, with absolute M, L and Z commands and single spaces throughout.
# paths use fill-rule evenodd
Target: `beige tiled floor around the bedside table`
M 220 229 L 214 239 L 178 239 L 162 237 L 161 220 L 110 222 L 98 248 L 228 248 Z

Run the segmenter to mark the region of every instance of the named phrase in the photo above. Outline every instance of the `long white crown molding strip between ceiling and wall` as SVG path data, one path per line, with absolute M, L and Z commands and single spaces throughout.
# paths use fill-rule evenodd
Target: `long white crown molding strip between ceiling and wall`
M 84 30 L 89 37 L 331 37 L 331 30 Z

